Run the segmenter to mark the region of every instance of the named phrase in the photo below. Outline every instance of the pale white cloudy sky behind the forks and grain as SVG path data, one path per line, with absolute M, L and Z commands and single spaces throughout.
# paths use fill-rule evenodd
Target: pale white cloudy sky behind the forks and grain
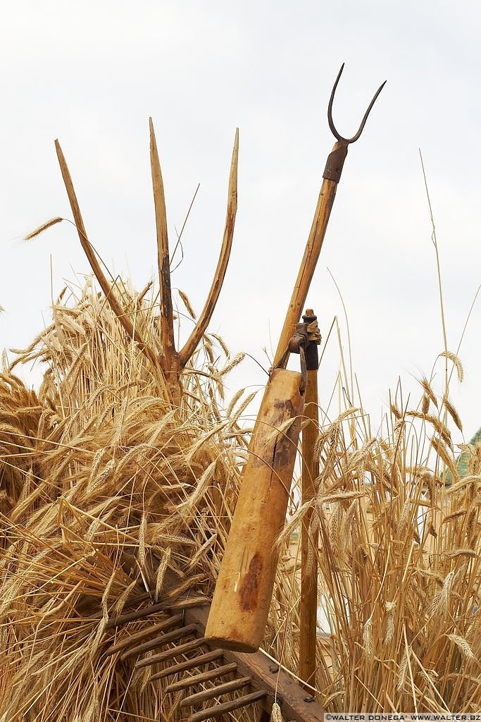
M 481 283 L 481 11 L 469 1 L 125 1 L 1 3 L 0 347 L 26 345 L 53 290 L 88 270 L 53 139 L 61 141 L 92 243 L 138 287 L 154 272 L 148 117 L 161 155 L 171 239 L 195 187 L 185 260 L 172 282 L 200 309 L 224 227 L 240 129 L 234 250 L 212 329 L 260 360 L 275 345 L 304 251 L 325 158 L 326 108 L 340 64 L 335 119 L 351 147 L 309 293 L 324 335 L 350 322 L 363 401 L 379 419 L 389 386 L 431 373 L 443 347 L 423 152 L 441 254 L 448 346 L 456 350 Z M 481 424 L 481 299 L 452 396 L 469 438 Z M 320 370 L 322 401 L 339 355 Z M 232 380 L 261 383 L 250 361 Z

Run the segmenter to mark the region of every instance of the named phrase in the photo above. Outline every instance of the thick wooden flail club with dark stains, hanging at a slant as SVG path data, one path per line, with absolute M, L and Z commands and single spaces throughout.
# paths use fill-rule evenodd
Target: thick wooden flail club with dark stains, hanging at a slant
M 206 640 L 221 648 L 253 652 L 264 638 L 304 407 L 300 385 L 301 374 L 274 370 L 257 414 L 206 625 Z

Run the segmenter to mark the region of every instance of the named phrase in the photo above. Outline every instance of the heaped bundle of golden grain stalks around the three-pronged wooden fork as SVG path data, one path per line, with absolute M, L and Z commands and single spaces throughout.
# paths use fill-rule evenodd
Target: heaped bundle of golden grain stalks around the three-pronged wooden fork
M 118 282 L 115 293 L 159 354 L 151 288 L 138 295 Z M 51 325 L 4 369 L 2 721 L 182 717 L 165 680 L 106 654 L 165 614 L 117 632 L 109 622 L 146 600 L 210 598 L 247 456 L 241 419 L 251 397 L 237 393 L 222 408 L 224 377 L 240 360 L 204 335 L 173 405 L 159 367 L 89 280 L 79 296 L 63 290 Z M 32 361 L 44 370 L 37 393 L 15 375 Z

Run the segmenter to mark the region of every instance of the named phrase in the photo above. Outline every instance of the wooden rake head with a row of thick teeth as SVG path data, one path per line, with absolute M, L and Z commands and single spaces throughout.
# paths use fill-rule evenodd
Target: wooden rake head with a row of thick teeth
M 167 570 L 166 584 L 176 586 L 171 570 Z M 161 611 L 169 614 L 167 619 L 128 635 L 105 654 L 116 655 L 118 664 L 136 658 L 137 670 L 151 668 L 149 682 L 165 679 L 168 684 L 163 691 L 183 695 L 179 705 L 190 710 L 190 722 L 219 718 L 255 703 L 260 705 L 261 718 L 267 720 L 274 702 L 281 706 L 286 721 L 322 719 L 324 710 L 314 697 L 265 653 L 211 647 L 205 638 L 208 600 L 160 601 L 112 619 L 107 627 L 120 630 Z M 231 698 L 226 700 L 225 695 Z

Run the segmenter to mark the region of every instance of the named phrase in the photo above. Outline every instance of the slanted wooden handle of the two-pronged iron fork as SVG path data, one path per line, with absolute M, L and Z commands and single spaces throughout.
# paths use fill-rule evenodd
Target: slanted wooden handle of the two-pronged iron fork
M 335 144 L 334 149 L 336 149 L 336 147 L 337 143 Z M 294 291 L 291 296 L 291 303 L 288 305 L 286 320 L 284 321 L 283 329 L 281 331 L 281 338 L 279 339 L 278 347 L 275 352 L 274 366 L 281 360 L 288 347 L 289 339 L 291 339 L 291 336 L 294 334 L 296 323 L 298 323 L 299 318 L 301 318 L 301 311 L 304 308 L 304 303 L 306 303 L 307 292 L 309 291 L 309 286 L 316 269 L 317 261 L 319 260 L 319 253 L 321 252 L 322 241 L 324 240 L 327 223 L 329 222 L 336 189 L 337 183 L 335 181 L 330 181 L 327 178 L 322 181 L 321 192 L 319 193 L 311 232 L 309 233 L 309 238 L 307 239 L 306 250 L 304 251 L 304 257 L 302 258 L 301 268 L 299 269 Z M 284 365 L 286 365 L 286 363 Z

